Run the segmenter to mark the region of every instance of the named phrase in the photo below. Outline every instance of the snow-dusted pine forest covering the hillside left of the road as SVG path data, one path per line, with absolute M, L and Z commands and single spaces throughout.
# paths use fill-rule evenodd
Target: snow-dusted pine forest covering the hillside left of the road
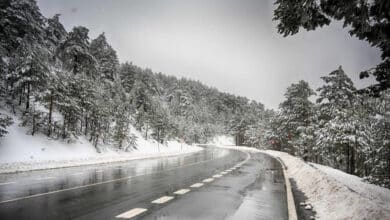
M 50 138 L 86 136 L 94 146 L 134 147 L 133 126 L 146 139 L 206 143 L 217 134 L 237 144 L 258 144 L 272 111 L 245 97 L 198 81 L 120 63 L 104 35 L 89 39 L 86 27 L 67 31 L 60 16 L 44 17 L 35 1 L 0 3 L 2 109 Z M 0 135 L 10 117 L 0 115 Z M 251 125 L 251 126 L 249 126 Z M 142 146 L 140 146 L 142 147 Z

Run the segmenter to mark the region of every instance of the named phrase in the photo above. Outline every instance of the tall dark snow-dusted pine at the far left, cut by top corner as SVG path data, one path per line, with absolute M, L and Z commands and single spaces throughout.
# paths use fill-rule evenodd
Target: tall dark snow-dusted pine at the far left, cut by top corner
M 31 81 L 36 79 L 34 70 L 44 62 L 38 62 L 44 38 L 44 17 L 35 1 L 1 1 L 0 3 L 0 66 L 5 72 L 6 91 L 14 105 L 21 94 L 30 107 Z

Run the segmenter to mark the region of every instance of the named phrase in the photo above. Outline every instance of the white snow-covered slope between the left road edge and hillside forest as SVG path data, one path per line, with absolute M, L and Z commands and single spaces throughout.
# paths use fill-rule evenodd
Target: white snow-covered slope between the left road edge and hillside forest
M 0 173 L 173 156 L 202 150 L 176 140 L 168 141 L 167 145 L 145 140 L 131 128 L 137 136 L 137 149 L 123 152 L 104 146 L 103 152 L 98 153 L 85 137 L 80 137 L 75 143 L 65 143 L 43 134 L 26 135 L 27 129 L 19 126 L 16 117 L 13 120 L 14 123 L 7 128 L 9 133 L 0 139 Z

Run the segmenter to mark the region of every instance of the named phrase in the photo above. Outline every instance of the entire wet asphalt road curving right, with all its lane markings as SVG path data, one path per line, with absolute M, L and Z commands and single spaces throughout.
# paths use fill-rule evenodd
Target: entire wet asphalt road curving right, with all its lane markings
M 281 164 L 212 146 L 180 156 L 0 174 L 0 219 L 287 219 Z

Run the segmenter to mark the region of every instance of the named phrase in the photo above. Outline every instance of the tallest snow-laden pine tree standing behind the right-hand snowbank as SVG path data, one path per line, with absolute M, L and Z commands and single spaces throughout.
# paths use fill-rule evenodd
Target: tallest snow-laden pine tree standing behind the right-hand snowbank
M 356 88 L 341 66 L 321 79 L 325 85 L 318 88 L 319 129 L 316 131 L 321 158 L 326 164 L 353 174 L 357 154 L 369 141 L 368 131 L 355 109 Z

